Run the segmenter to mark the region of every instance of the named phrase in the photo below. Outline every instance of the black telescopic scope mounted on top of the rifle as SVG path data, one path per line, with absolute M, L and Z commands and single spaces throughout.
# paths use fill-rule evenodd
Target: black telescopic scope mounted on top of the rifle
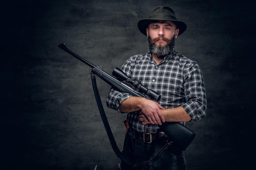
M 115 68 L 112 72 L 112 75 L 115 76 L 117 79 L 123 82 L 125 81 L 126 83 L 134 86 L 137 91 L 140 91 L 142 93 L 145 93 L 146 95 L 149 95 L 150 97 L 153 97 L 153 99 L 155 99 L 156 101 L 160 98 L 160 95 L 157 94 L 155 91 L 142 86 L 139 80 L 134 79 L 132 77 L 128 77 L 119 68 Z

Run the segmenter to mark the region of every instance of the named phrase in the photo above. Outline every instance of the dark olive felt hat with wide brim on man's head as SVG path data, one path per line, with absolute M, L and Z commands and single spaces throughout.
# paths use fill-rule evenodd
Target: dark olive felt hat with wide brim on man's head
M 158 6 L 153 10 L 148 18 L 139 20 L 139 31 L 147 36 L 146 28 L 148 28 L 148 24 L 158 20 L 173 22 L 177 26 L 177 29 L 180 29 L 179 35 L 186 30 L 186 24 L 177 20 L 174 11 L 170 7 Z

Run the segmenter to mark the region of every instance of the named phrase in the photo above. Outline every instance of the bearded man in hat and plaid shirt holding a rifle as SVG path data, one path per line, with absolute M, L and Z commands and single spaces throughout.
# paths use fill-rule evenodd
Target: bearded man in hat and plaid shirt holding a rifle
M 198 121 L 206 115 L 206 93 L 197 62 L 174 50 L 175 39 L 186 30 L 170 7 L 156 7 L 148 18 L 138 22 L 148 36 L 149 52 L 130 57 L 121 67 L 129 77 L 139 80 L 161 98 L 134 97 L 111 88 L 107 106 L 127 113 L 132 138 L 126 134 L 123 153 L 137 166 L 122 161 L 122 170 L 186 170 L 184 152 L 159 130 L 163 122 Z M 156 161 L 159 150 L 169 142 Z

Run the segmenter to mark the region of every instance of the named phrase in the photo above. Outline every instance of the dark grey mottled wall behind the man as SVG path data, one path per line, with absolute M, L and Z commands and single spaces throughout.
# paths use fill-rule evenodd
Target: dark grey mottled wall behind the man
M 188 170 L 242 170 L 255 156 L 255 3 L 228 0 L 10 0 L 0 2 L 2 170 L 117 170 L 97 108 L 89 66 L 107 73 L 147 52 L 137 29 L 157 5 L 172 7 L 188 29 L 176 51 L 204 74 L 208 110 L 188 123 L 197 136 Z M 110 86 L 97 77 L 112 132 L 122 149 L 126 115 L 106 107 Z M 243 167 L 243 168 L 242 168 Z

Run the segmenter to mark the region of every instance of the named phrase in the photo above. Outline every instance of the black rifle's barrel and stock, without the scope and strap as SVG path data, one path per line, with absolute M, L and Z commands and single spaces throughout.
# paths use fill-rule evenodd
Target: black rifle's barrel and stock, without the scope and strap
M 92 73 L 99 76 L 101 79 L 103 79 L 106 83 L 108 83 L 110 86 L 115 88 L 117 91 L 120 92 L 126 92 L 130 93 L 133 96 L 137 97 L 146 97 L 144 94 L 140 93 L 139 91 L 135 90 L 134 88 L 131 88 L 130 86 L 124 84 L 120 80 L 116 79 L 115 77 L 109 75 L 105 71 L 101 69 L 101 67 L 94 66 L 90 62 L 86 61 L 79 55 L 73 53 L 67 47 L 65 44 L 59 44 L 58 47 L 66 51 L 67 53 L 70 53 L 83 63 L 87 64 L 92 68 Z M 149 89 L 150 90 L 150 89 Z M 151 92 L 150 92 L 151 93 Z M 153 95 L 157 93 L 153 92 Z M 159 95 L 160 96 L 160 95 Z M 157 97 L 157 99 L 159 98 Z M 166 135 L 175 142 L 175 144 L 180 148 L 180 150 L 186 150 L 186 148 L 191 144 L 193 139 L 195 138 L 195 132 L 190 130 L 189 128 L 186 128 L 179 122 L 165 122 L 161 126 L 159 125 L 160 129 L 166 133 Z

